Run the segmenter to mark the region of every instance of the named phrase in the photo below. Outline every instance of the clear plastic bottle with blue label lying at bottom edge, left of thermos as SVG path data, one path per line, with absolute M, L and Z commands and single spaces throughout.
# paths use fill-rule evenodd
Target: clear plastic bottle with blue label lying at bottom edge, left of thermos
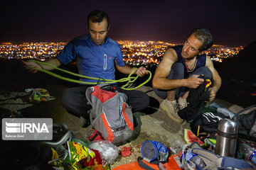
M 181 156 L 181 160 L 182 157 L 183 155 Z M 192 152 L 186 152 L 185 160 L 188 161 L 188 164 L 194 169 L 203 169 L 206 166 L 203 160 Z M 193 164 L 191 162 L 193 162 Z

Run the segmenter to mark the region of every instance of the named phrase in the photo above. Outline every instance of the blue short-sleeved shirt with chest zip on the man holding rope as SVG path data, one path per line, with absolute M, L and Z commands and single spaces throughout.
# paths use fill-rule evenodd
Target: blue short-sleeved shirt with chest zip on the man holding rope
M 79 74 L 101 79 L 115 79 L 114 62 L 119 66 L 125 65 L 121 47 L 116 41 L 107 38 L 99 47 L 92 42 L 90 35 L 82 35 L 68 42 L 57 58 L 63 64 L 76 59 Z M 97 82 L 93 79 L 80 81 Z

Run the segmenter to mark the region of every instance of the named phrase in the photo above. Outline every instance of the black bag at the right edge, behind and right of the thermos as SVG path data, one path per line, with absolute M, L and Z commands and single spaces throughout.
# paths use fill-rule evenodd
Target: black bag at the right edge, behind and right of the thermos
M 242 109 L 232 119 L 238 123 L 238 137 L 256 141 L 256 105 Z

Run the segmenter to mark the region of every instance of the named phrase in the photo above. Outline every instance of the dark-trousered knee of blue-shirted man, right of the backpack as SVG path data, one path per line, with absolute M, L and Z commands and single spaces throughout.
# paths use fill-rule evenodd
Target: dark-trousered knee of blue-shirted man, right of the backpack
M 132 112 L 142 111 L 149 106 L 149 96 L 143 91 L 137 90 L 124 90 L 120 91 L 128 96 L 128 104 L 132 107 Z

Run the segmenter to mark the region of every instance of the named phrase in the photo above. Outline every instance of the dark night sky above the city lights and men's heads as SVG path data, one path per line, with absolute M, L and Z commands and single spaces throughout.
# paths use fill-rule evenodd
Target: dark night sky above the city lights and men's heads
M 0 42 L 68 42 L 88 33 L 87 14 L 110 17 L 114 40 L 183 43 L 193 28 L 207 28 L 215 44 L 246 46 L 256 40 L 256 1 L 5 0 Z

